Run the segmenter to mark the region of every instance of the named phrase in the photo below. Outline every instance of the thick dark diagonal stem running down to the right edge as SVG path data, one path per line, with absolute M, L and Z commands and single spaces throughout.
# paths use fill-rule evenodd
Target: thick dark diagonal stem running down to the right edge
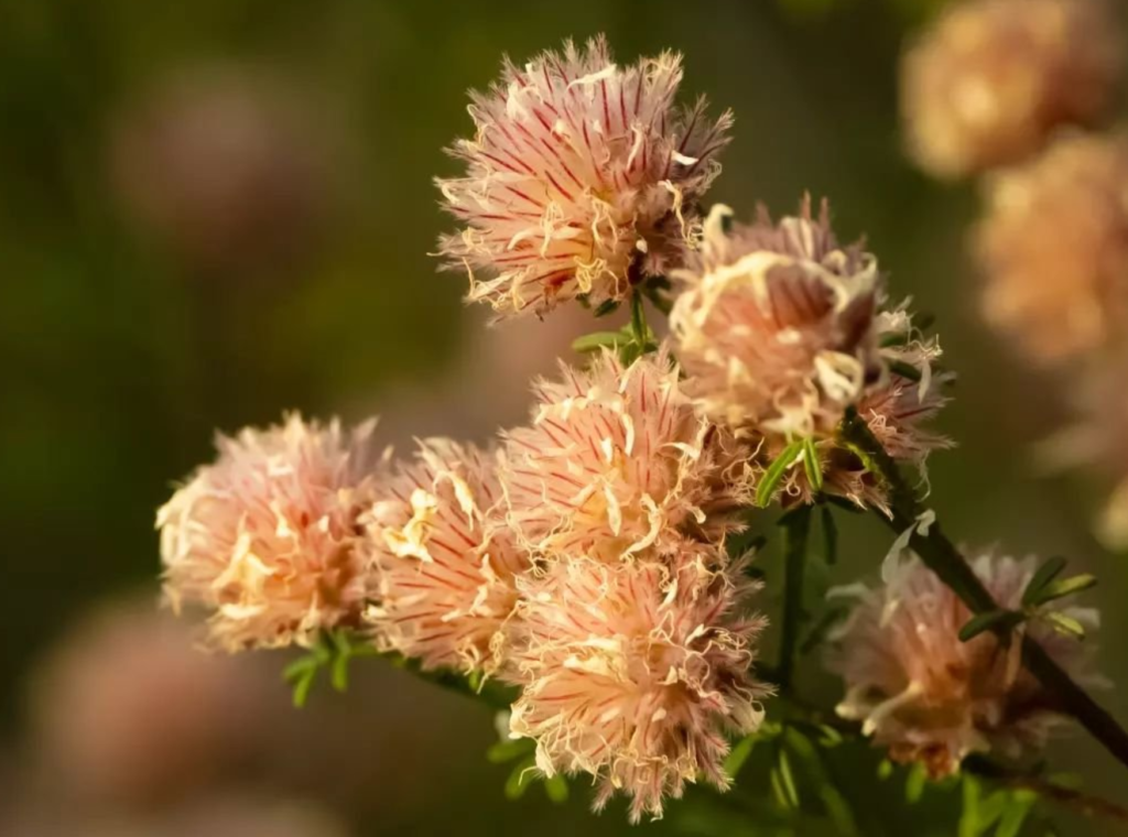
M 917 519 L 924 508 L 916 492 L 905 482 L 897 464 L 870 432 L 869 425 L 853 411 L 843 420 L 840 441 L 844 447 L 857 452 L 889 488 L 890 514 L 878 516 L 885 526 L 898 535 L 913 527 L 909 541 L 913 550 L 973 614 L 997 609 L 994 597 L 940 526 L 929 526 L 927 535 L 919 531 Z M 999 627 L 997 633 L 1001 637 L 1010 635 L 1004 627 Z M 1022 659 L 1026 670 L 1041 682 L 1057 707 L 1075 717 L 1104 749 L 1128 767 L 1128 733 L 1116 719 L 1074 682 L 1046 649 L 1029 635 L 1022 637 Z

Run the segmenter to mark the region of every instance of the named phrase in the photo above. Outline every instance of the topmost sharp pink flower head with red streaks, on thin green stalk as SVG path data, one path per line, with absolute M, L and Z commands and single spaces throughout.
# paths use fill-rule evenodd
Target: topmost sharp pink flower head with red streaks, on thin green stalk
M 675 109 L 680 82 L 680 55 L 620 69 L 598 37 L 523 68 L 506 60 L 490 92 L 472 94 L 477 135 L 451 150 L 468 170 L 437 180 L 465 223 L 440 252 L 470 273 L 470 300 L 501 316 L 599 305 L 679 258 L 732 124 L 707 118 L 704 99 Z

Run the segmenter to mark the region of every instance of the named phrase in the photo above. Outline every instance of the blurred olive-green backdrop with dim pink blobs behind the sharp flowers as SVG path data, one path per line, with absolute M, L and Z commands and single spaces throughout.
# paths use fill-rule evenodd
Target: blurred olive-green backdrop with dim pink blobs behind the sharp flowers
M 969 545 L 1098 573 L 1103 666 L 1128 681 L 1111 638 L 1128 636 L 1128 567 L 1089 534 L 1099 497 L 1031 465 L 1055 390 L 975 312 L 975 191 L 901 151 L 897 59 L 936 5 L 2 0 L 0 832 L 629 830 L 620 808 L 587 813 L 582 782 L 565 805 L 539 788 L 506 801 L 475 704 L 372 663 L 296 712 L 283 655 L 202 657 L 156 607 L 153 512 L 211 458 L 213 429 L 379 413 L 404 443 L 523 417 L 528 379 L 590 315 L 485 329 L 429 256 L 451 226 L 431 178 L 456 170 L 442 149 L 472 130 L 466 88 L 502 53 L 599 32 L 622 62 L 682 51 L 686 97 L 735 111 L 713 200 L 829 196 L 843 237 L 865 235 L 895 293 L 937 316 L 960 373 L 941 426 L 960 450 L 933 458 L 932 504 Z M 889 541 L 843 526 L 836 582 L 875 572 Z M 807 668 L 832 705 L 838 686 Z M 1122 720 L 1123 695 L 1103 696 Z M 1081 733 L 1051 759 L 1125 798 Z M 892 792 L 864 793 L 880 808 Z

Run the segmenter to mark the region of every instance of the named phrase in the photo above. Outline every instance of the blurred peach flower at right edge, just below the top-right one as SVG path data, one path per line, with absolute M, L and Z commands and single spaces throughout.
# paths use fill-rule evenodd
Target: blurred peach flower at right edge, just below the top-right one
M 1032 360 L 1121 343 L 1128 326 L 1128 133 L 1060 139 L 996 175 L 977 231 L 984 314 Z

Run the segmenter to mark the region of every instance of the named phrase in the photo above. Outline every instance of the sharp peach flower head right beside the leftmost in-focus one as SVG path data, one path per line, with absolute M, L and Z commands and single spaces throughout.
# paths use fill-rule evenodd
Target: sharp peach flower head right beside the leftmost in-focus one
M 377 644 L 424 668 L 493 669 L 526 553 L 493 517 L 496 457 L 447 439 L 421 442 L 362 522 L 378 576 Z

